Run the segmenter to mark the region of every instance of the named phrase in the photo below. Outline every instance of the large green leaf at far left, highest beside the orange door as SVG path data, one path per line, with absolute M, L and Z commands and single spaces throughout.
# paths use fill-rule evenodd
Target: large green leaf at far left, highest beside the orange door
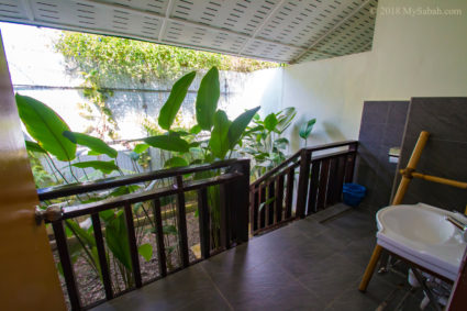
M 76 144 L 62 133 L 69 131 L 68 125 L 54 110 L 31 97 L 16 95 L 18 111 L 27 133 L 48 153 L 59 160 L 76 157 Z

